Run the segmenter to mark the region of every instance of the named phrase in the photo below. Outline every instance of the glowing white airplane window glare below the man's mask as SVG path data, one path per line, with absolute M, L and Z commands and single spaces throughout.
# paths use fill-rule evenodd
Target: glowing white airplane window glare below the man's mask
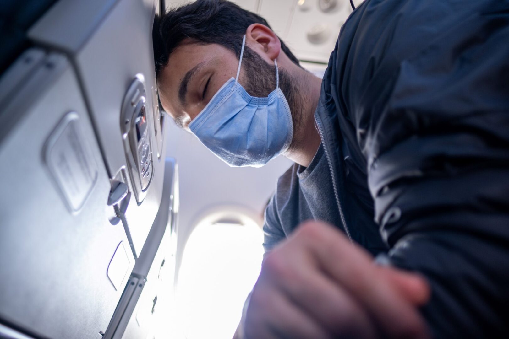
M 187 339 L 231 338 L 260 273 L 263 232 L 256 225 L 202 224 L 187 241 L 177 314 Z

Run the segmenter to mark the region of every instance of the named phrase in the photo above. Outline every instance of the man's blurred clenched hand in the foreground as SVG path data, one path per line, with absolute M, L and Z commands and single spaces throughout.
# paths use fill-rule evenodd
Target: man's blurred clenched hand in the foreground
M 419 276 L 379 267 L 331 226 L 308 222 L 264 260 L 244 318 L 247 339 L 427 338 Z

